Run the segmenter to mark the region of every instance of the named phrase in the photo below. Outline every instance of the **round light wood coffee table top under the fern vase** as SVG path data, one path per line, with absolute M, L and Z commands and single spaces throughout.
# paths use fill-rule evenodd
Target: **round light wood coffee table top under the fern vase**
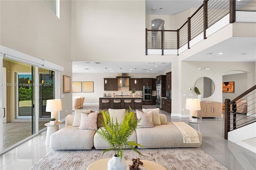
M 95 162 L 92 162 L 87 168 L 86 170 L 107 170 L 107 166 L 108 166 L 108 160 L 110 158 L 105 158 L 105 159 L 100 159 L 100 160 L 96 160 Z M 132 162 L 132 160 L 126 160 L 126 164 Z M 164 168 L 162 165 L 156 163 L 156 162 L 152 162 L 149 160 L 141 160 L 141 162 L 143 162 L 143 168 L 147 169 L 147 170 L 167 170 L 166 168 Z M 127 166 L 127 170 L 129 170 L 129 167 Z

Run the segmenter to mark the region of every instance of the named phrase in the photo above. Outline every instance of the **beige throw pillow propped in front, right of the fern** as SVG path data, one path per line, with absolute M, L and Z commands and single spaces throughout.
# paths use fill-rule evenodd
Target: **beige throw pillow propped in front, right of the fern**
M 148 112 L 141 112 L 136 110 L 136 116 L 138 119 L 140 119 L 140 123 L 138 124 L 137 128 L 148 128 L 148 127 L 154 127 L 153 121 L 152 121 L 152 111 Z

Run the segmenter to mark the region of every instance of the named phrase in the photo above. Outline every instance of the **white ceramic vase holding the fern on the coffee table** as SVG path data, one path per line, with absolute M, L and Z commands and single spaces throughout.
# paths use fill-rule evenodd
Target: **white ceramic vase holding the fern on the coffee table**
M 120 161 L 120 158 L 120 156 L 113 156 L 108 160 L 108 170 L 126 170 L 126 160 L 123 157 Z

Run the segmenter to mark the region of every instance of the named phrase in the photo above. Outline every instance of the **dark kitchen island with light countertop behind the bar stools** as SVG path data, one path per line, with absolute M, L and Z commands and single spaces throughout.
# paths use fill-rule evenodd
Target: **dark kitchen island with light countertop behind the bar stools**
M 130 100 L 132 100 L 132 103 L 130 103 L 130 107 L 132 108 L 132 109 L 134 109 L 134 100 L 136 100 L 136 99 L 141 99 L 142 101 L 143 101 L 143 97 L 142 96 L 134 96 L 134 97 L 132 97 L 132 96 L 107 96 L 107 97 L 100 97 L 100 101 L 99 101 L 99 103 L 100 103 L 100 106 L 99 106 L 99 109 L 100 110 L 102 110 L 102 100 L 104 100 L 104 99 L 108 99 L 109 100 L 109 102 L 110 102 L 110 109 L 114 109 L 114 100 L 115 99 L 120 99 L 121 100 L 121 109 L 125 109 L 125 105 L 124 105 L 124 100 L 126 100 L 126 99 L 130 99 Z

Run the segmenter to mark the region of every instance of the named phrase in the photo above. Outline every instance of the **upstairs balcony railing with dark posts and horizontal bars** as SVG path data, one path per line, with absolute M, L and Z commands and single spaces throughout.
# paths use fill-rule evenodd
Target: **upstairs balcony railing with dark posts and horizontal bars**
M 214 23 L 227 14 L 230 14 L 230 23 L 236 21 L 236 10 L 256 11 L 256 0 L 204 0 L 192 16 L 178 30 L 148 30 L 146 29 L 146 55 L 148 49 L 179 49 L 204 32 Z

